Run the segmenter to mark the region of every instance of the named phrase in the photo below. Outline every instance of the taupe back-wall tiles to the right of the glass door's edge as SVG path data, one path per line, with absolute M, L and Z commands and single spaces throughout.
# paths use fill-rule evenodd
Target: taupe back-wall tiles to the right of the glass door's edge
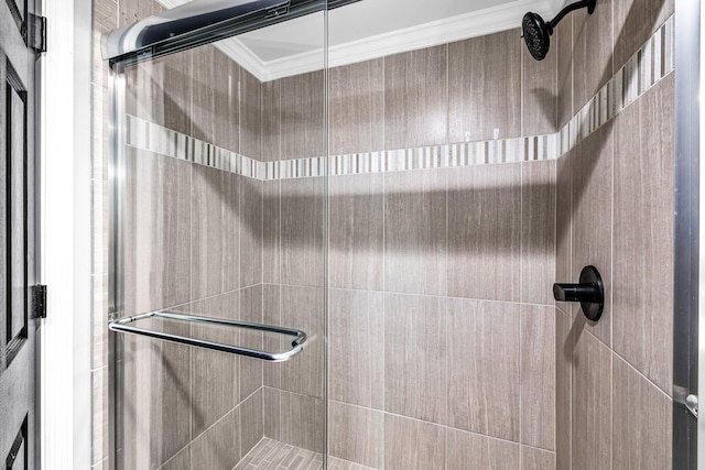
M 334 68 L 330 154 L 549 134 L 518 30 Z M 555 466 L 555 162 L 329 178 L 328 448 L 376 469 Z

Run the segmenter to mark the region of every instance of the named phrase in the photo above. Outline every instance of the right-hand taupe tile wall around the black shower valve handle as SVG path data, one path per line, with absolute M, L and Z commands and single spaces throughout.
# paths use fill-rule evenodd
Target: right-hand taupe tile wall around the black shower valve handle
M 592 17 L 566 18 L 560 123 L 673 11 L 672 0 L 598 0 Z M 557 162 L 556 277 L 577 282 L 594 264 L 607 295 L 597 324 L 556 305 L 560 469 L 671 468 L 673 107 L 670 74 Z

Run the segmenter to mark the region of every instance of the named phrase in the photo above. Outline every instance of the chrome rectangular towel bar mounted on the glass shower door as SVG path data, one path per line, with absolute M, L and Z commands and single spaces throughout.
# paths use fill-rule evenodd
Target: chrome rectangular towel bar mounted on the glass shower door
M 242 328 L 242 329 L 250 329 L 250 330 L 257 330 L 257 331 L 275 332 L 279 335 L 295 337 L 295 339 L 291 342 L 292 348 L 289 351 L 267 352 L 267 351 L 260 351 L 257 349 L 243 348 L 240 346 L 206 341 L 203 339 L 188 338 L 180 335 L 172 335 L 167 332 L 139 328 L 137 326 L 130 326 L 130 324 L 134 324 L 139 320 L 143 320 L 148 318 L 164 318 L 169 320 L 218 325 L 218 326 L 224 326 L 228 328 Z M 291 358 L 293 358 L 304 349 L 304 343 L 306 342 L 306 334 L 297 329 L 275 327 L 271 325 L 250 324 L 246 321 L 226 320 L 223 318 L 196 317 L 193 315 L 175 314 L 171 311 L 151 311 L 149 314 L 120 318 L 118 320 L 110 321 L 108 324 L 108 328 L 117 332 L 147 336 L 150 338 L 156 338 L 164 341 L 177 342 L 180 345 L 195 346 L 198 348 L 213 349 L 215 351 L 223 351 L 223 352 L 229 352 L 231 354 L 261 359 L 268 362 L 284 362 L 290 360 Z

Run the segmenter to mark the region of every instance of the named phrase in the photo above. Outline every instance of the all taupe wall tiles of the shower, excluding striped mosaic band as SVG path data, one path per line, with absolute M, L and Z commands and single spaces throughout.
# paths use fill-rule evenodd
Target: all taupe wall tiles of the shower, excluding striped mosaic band
M 673 12 L 662 3 L 599 0 L 593 17 L 564 20 L 541 63 L 512 30 L 330 69 L 329 154 L 555 133 Z M 96 1 L 96 40 L 150 8 Z M 153 85 L 134 87 L 145 95 L 131 112 L 262 162 L 324 154 L 322 73 L 260 84 L 218 61 L 208 48 L 144 67 L 132 79 Z M 97 56 L 95 64 L 94 463 L 101 468 L 107 67 Z M 132 445 L 135 459 L 165 468 L 227 468 L 262 435 L 321 451 L 327 367 L 329 452 L 367 467 L 668 468 L 672 294 L 661 281 L 672 278 L 673 263 L 672 106 L 671 74 L 557 161 L 332 176 L 327 233 L 323 178 L 257 181 L 135 150 L 132 177 L 164 190 L 140 184 L 132 195 L 134 230 L 147 242 L 128 270 L 139 281 L 132 308 L 181 306 L 300 327 L 314 353 L 261 367 L 129 341 L 126 360 L 135 367 L 124 380 L 134 397 L 164 391 L 159 403 L 126 397 L 151 413 L 137 430 L 173 436 L 124 442 L 126 451 Z M 148 275 L 137 262 L 156 271 Z M 551 295 L 553 282 L 574 282 L 590 263 L 608 286 L 597 325 Z M 662 308 L 647 308 L 657 303 Z M 180 403 L 186 411 L 171 413 Z

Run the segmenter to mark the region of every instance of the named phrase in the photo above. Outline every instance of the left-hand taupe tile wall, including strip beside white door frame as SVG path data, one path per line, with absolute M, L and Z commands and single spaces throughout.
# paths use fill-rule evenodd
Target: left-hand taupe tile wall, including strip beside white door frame
M 94 452 L 107 467 L 108 67 L 100 34 L 160 11 L 94 3 Z M 260 159 L 261 84 L 213 46 L 128 72 L 128 112 Z M 127 149 L 126 313 L 170 308 L 262 321 L 261 188 L 239 175 Z M 154 325 L 160 327 L 159 325 Z M 261 349 L 261 336 L 171 332 Z M 263 436 L 262 365 L 126 337 L 126 468 L 232 468 Z

